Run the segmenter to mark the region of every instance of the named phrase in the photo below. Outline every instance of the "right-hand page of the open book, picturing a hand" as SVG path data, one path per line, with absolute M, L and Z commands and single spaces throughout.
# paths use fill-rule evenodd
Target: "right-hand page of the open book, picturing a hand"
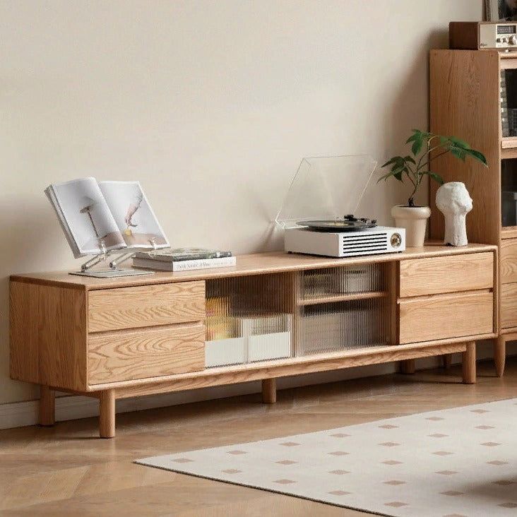
M 99 182 L 117 226 L 128 247 L 169 247 L 167 237 L 138 182 Z

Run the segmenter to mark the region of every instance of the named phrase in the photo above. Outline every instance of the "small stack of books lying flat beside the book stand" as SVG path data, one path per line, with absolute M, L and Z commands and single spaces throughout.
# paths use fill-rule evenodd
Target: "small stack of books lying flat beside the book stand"
M 191 271 L 192 269 L 227 268 L 235 266 L 231 251 L 204 248 L 160 249 L 139 251 L 133 258 L 134 268 L 156 271 Z

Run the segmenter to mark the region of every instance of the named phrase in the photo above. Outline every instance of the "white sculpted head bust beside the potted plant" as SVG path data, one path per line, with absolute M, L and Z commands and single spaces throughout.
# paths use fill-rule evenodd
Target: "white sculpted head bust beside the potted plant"
M 436 191 L 436 206 L 444 214 L 444 244 L 466 246 L 467 228 L 465 218 L 472 210 L 472 199 L 464 183 L 450 182 L 443 184 Z

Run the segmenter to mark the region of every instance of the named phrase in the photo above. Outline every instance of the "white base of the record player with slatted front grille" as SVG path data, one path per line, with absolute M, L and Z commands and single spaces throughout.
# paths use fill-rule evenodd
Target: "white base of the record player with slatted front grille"
M 362 256 L 405 250 L 405 229 L 377 226 L 352 232 L 315 232 L 307 227 L 287 228 L 284 249 L 322 256 Z

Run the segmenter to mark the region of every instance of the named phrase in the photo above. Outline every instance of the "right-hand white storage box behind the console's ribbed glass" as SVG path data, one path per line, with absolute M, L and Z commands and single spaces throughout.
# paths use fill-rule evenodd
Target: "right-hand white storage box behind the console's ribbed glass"
M 272 314 L 241 318 L 241 333 L 248 344 L 248 362 L 291 357 L 291 315 Z

